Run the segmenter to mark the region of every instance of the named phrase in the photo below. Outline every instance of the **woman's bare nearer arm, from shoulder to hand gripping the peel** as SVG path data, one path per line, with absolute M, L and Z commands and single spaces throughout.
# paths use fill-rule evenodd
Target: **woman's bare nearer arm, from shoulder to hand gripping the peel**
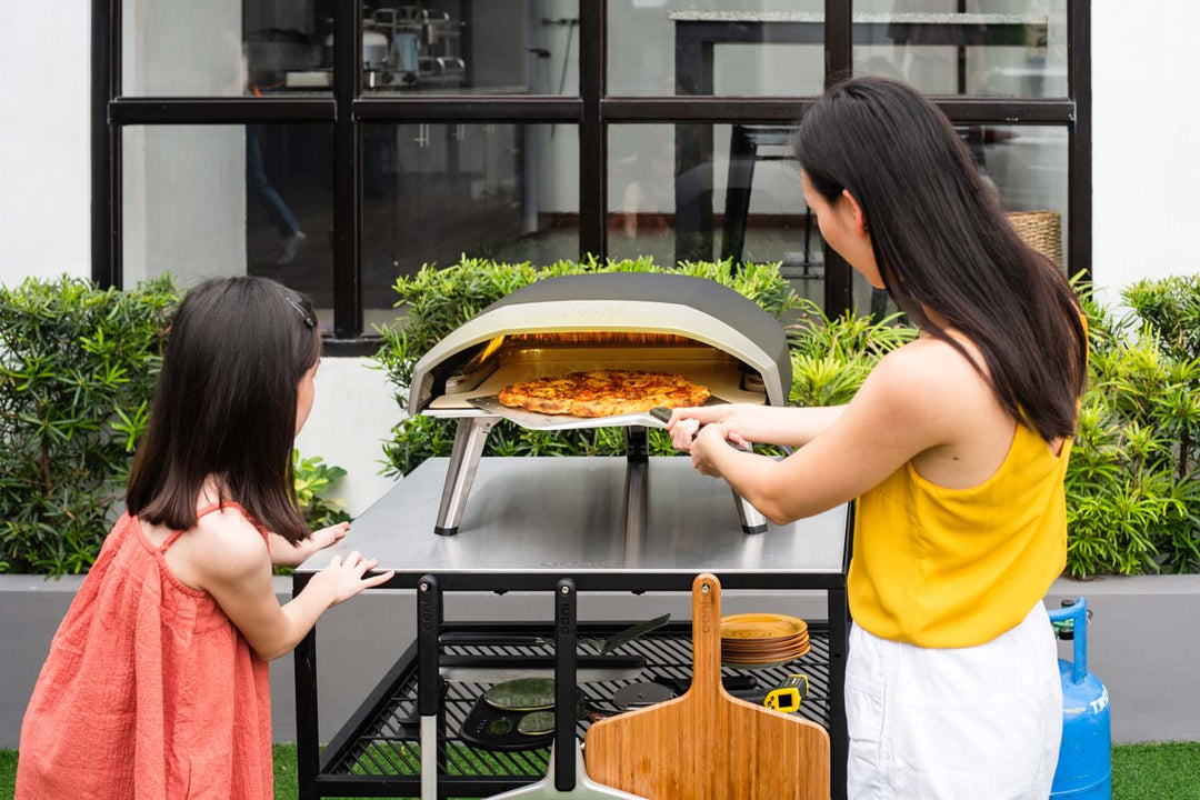
M 787 458 L 728 446 L 731 434 L 745 434 L 716 422 L 691 443 L 692 463 L 724 477 L 776 524 L 828 511 L 883 482 L 917 455 L 956 440 L 959 429 L 971 425 L 964 396 L 978 391 L 979 379 L 959 361 L 961 367 L 947 368 L 931 348 L 901 348 L 881 360 L 828 429 Z

